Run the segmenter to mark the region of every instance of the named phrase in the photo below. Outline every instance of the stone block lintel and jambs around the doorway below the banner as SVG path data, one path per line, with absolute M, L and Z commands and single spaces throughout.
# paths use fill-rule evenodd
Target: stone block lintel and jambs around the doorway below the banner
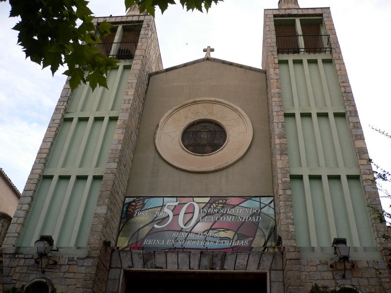
M 269 272 L 270 293 L 283 292 L 281 252 L 118 251 L 111 255 L 107 293 L 117 293 L 126 269 Z

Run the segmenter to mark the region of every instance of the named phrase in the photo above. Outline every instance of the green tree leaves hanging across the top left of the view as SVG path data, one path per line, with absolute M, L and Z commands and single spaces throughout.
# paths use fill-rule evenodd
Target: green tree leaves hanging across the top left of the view
M 5 0 L 0 0 L 5 1 Z M 222 0 L 180 0 L 187 10 L 208 11 L 212 3 Z M 67 66 L 64 72 L 70 77 L 70 87 L 89 83 L 92 89 L 97 85 L 107 87 L 107 73 L 118 63 L 114 58 L 97 54 L 98 36 L 110 33 L 111 24 L 92 23 L 92 11 L 86 0 L 9 0 L 10 17 L 20 17 L 13 29 L 19 32 L 18 44 L 23 47 L 26 58 L 49 67 L 54 74 L 60 66 Z M 162 13 L 174 0 L 125 0 L 126 9 L 138 4 L 140 12 L 154 16 L 155 6 Z M 85 72 L 87 71 L 87 73 Z

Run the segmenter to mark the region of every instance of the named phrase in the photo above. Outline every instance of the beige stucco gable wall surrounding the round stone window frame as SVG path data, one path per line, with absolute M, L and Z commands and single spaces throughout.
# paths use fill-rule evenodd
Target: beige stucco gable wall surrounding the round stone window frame
M 156 151 L 159 120 L 174 106 L 196 98 L 223 99 L 249 116 L 253 141 L 234 165 L 192 173 L 169 165 Z M 263 72 L 207 60 L 151 76 L 127 196 L 273 194 L 267 115 Z

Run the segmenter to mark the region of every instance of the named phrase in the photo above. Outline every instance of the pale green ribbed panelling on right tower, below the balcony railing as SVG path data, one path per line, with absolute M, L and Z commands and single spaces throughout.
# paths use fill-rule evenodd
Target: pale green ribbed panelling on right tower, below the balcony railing
M 278 58 L 301 257 L 329 259 L 333 238 L 344 237 L 353 259 L 380 259 L 331 55 Z

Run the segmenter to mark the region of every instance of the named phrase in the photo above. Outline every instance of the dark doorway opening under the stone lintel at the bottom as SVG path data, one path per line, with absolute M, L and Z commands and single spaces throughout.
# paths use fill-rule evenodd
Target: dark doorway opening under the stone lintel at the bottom
M 267 293 L 265 272 L 126 270 L 126 293 Z

